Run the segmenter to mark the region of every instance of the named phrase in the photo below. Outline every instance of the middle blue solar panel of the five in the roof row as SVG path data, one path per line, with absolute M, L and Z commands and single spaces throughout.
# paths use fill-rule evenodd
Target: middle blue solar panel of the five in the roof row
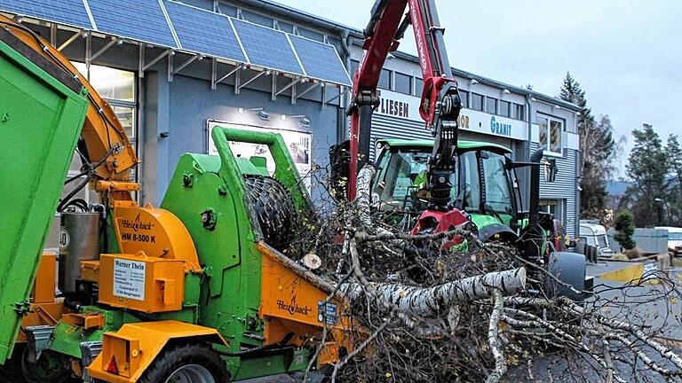
M 230 20 L 225 15 L 166 2 L 166 11 L 183 49 L 246 62 Z

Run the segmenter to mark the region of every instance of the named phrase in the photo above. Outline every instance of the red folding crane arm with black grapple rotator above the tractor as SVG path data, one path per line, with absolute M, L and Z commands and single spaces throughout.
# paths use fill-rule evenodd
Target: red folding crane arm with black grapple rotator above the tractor
M 403 16 L 406 8 L 408 12 Z M 371 115 L 379 102 L 377 84 L 381 68 L 388 54 L 398 49 L 400 38 L 410 24 L 424 78 L 419 114 L 426 129 L 435 137 L 427 169 L 430 208 L 447 211 L 452 188 L 450 175 L 455 171 L 452 154 L 457 142 L 457 117 L 462 103 L 433 0 L 377 0 L 372 8 L 372 16 L 364 30 L 362 48 L 365 55 L 353 76 L 353 98 L 348 112 L 351 116 L 351 163 L 347 197 L 349 200 L 355 198 L 358 160 L 366 160 L 369 153 Z

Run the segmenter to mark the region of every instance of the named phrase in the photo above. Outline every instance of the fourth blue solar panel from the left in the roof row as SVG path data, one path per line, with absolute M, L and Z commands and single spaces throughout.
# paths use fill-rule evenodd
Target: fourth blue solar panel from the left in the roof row
M 251 64 L 290 74 L 305 74 L 284 32 L 242 20 L 232 19 L 232 22 Z

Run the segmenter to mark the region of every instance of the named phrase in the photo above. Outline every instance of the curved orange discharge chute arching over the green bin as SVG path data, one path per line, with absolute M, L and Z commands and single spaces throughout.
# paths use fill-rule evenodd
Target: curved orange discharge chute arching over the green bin
M 111 106 L 99 96 L 71 61 L 41 36 L 2 15 L 0 28 L 3 29 L 4 40 L 23 43 L 35 51 L 35 54 L 58 66 L 63 75 L 74 78 L 88 90 L 90 105 L 85 114 L 81 141 L 78 145 L 83 160 L 87 162 L 83 176 L 96 180 L 95 188 L 112 201 L 118 201 L 123 205 L 134 204 L 130 191 L 139 189 L 139 186 L 131 183 L 131 168 L 137 166 L 139 160 Z

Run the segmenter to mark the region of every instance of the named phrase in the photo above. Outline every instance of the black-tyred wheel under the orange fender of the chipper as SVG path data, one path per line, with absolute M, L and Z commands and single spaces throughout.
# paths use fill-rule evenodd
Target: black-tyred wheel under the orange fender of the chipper
M 226 363 L 209 344 L 177 344 L 156 356 L 139 383 L 228 383 Z

